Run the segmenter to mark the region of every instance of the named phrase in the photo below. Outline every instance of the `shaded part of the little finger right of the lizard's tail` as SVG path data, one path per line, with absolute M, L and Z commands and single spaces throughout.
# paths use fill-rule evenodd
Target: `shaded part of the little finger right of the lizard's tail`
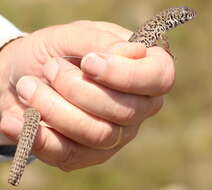
M 33 153 L 44 162 L 64 171 L 71 171 L 103 163 L 119 149 L 120 147 L 108 151 L 91 149 L 71 141 L 50 128 L 41 127 Z

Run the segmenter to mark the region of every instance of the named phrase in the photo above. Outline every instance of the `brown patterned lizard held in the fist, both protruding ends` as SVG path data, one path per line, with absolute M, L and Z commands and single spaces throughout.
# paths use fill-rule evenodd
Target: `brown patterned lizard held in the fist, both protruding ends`
M 196 17 L 196 11 L 189 7 L 168 8 L 147 20 L 129 38 L 129 42 L 138 42 L 146 48 L 158 45 L 162 41 L 162 47 L 172 56 L 166 32 Z M 64 56 L 63 58 L 77 58 L 77 56 Z M 81 59 L 81 57 L 79 57 Z M 19 138 L 16 153 L 9 170 L 8 183 L 19 185 L 27 159 L 31 153 L 34 139 L 41 120 L 41 114 L 35 108 L 28 108 L 24 112 L 24 125 Z

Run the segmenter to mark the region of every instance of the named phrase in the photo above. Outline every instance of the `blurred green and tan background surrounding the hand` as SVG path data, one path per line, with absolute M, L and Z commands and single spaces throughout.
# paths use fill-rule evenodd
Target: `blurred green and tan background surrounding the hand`
M 198 17 L 169 33 L 177 80 L 162 111 L 145 121 L 137 138 L 107 163 L 65 173 L 36 161 L 16 189 L 212 189 L 211 0 L 0 1 L 1 14 L 27 32 L 80 19 L 134 30 L 146 18 L 175 6 L 193 7 Z M 0 189 L 8 188 L 8 167 L 0 165 Z

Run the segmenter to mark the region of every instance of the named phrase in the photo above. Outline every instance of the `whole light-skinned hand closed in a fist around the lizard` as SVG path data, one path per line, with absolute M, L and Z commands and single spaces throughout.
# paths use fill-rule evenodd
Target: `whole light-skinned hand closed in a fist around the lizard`
M 1 131 L 17 142 L 23 112 L 34 107 L 45 122 L 33 147 L 39 159 L 65 171 L 108 160 L 159 111 L 175 79 L 171 57 L 127 42 L 131 34 L 78 21 L 9 43 L 0 52 Z M 101 150 L 116 142 L 120 127 L 119 145 Z

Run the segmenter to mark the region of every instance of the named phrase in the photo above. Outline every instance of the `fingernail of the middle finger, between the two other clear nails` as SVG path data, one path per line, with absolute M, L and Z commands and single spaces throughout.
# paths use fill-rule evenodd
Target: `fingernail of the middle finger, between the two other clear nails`
M 55 59 L 51 59 L 44 65 L 44 76 L 48 81 L 53 82 L 57 76 L 59 65 Z

